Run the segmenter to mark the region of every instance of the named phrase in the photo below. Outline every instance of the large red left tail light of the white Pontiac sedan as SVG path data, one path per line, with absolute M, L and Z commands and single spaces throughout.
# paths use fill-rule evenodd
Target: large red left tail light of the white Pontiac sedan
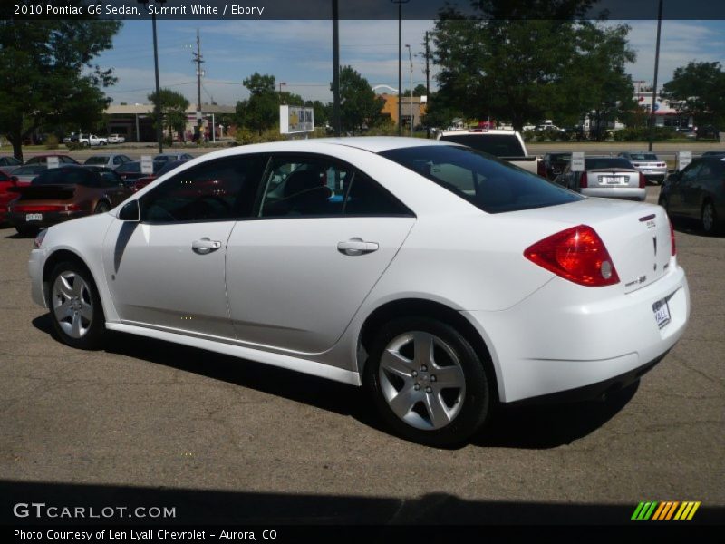
M 604 287 L 619 283 L 602 238 L 588 225 L 567 228 L 544 238 L 527 248 L 524 257 L 581 286 Z

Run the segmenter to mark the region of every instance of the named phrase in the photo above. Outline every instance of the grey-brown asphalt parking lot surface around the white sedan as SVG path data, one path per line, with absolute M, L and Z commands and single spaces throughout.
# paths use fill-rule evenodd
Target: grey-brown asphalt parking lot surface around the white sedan
M 693 500 L 723 523 L 725 237 L 677 229 L 691 322 L 641 384 L 504 409 L 438 450 L 343 384 L 128 335 L 60 344 L 30 298 L 32 239 L 0 228 L 0 520 L 45 502 L 173 507 L 174 523 L 625 523 L 640 501 Z

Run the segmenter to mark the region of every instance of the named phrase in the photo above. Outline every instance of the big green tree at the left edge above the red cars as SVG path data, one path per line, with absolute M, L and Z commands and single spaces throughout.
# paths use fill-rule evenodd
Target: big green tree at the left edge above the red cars
M 34 131 L 79 130 L 101 120 L 111 102 L 102 87 L 116 78 L 92 60 L 111 48 L 121 23 L 15 20 L 10 9 L 11 5 L 0 8 L 0 131 L 22 160 L 23 141 Z

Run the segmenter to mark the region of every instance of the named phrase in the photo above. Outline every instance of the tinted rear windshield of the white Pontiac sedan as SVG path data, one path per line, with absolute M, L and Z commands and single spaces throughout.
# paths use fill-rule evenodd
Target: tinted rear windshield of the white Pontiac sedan
M 584 198 L 470 148 L 420 146 L 380 154 L 488 213 L 557 206 Z

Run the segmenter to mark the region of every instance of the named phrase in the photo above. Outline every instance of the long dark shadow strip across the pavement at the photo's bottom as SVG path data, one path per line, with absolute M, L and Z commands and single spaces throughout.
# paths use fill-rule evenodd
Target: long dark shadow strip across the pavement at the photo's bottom
M 7 525 L 181 525 L 181 524 L 313 524 L 313 525 L 505 525 L 505 524 L 650 524 L 632 521 L 637 507 L 632 504 L 565 504 L 525 501 L 463 500 L 455 495 L 433 493 L 415 499 L 361 497 L 352 495 L 301 495 L 247 491 L 199 491 L 189 489 L 134 488 L 130 486 L 84 485 L 51 482 L 0 481 L 0 523 Z M 637 498 L 636 500 L 667 500 Z M 38 516 L 43 509 L 23 505 L 44 503 L 44 507 L 85 507 L 84 518 Z M 15 505 L 20 507 L 15 508 Z M 112 509 L 114 515 L 89 519 Z M 116 512 L 125 507 L 123 515 Z M 175 517 L 133 518 L 151 507 L 174 509 Z M 28 515 L 17 517 L 14 510 Z M 111 510 L 105 510 L 111 512 Z M 671 521 L 672 526 L 722 523 L 725 509 L 701 505 L 691 521 Z M 653 522 L 653 524 L 667 521 Z M 421 528 L 421 529 L 426 529 Z M 267 528 L 269 529 L 269 528 Z M 358 530 L 360 527 L 353 527 Z M 340 541 L 340 539 L 335 539 Z

